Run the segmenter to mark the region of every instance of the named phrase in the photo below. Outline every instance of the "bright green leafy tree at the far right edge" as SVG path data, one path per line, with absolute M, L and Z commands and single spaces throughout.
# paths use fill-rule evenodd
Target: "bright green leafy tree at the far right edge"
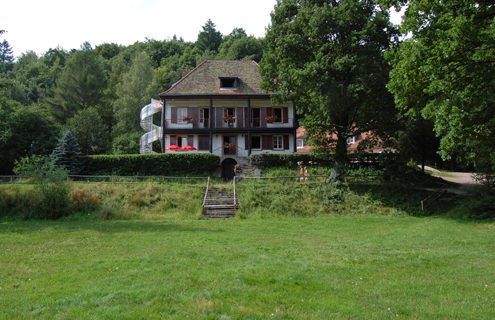
M 489 1 L 383 1 L 407 6 L 411 37 L 389 55 L 388 88 L 404 114 L 434 123 L 444 160 L 495 172 L 495 5 Z

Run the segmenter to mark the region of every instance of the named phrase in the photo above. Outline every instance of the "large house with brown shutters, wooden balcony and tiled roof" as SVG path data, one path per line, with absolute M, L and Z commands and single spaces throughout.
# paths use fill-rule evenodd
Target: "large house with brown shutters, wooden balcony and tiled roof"
M 202 62 L 160 93 L 161 127 L 147 142 L 158 138 L 162 152 L 176 152 L 172 145 L 191 146 L 189 152 L 235 163 L 251 154 L 295 152 L 295 105 L 273 105 L 260 81 L 255 61 Z

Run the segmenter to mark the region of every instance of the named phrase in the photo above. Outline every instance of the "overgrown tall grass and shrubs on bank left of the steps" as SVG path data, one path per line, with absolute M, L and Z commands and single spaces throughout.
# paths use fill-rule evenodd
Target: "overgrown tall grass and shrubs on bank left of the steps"
M 0 186 L 0 217 L 37 218 L 42 206 L 55 212 L 39 185 Z M 71 217 L 90 219 L 194 219 L 201 216 L 201 184 L 161 185 L 72 183 L 66 210 Z

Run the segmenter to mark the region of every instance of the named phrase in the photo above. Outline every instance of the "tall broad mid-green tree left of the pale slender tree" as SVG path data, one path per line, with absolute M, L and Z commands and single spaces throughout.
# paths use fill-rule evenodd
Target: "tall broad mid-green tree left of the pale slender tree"
M 52 115 L 65 123 L 79 110 L 98 107 L 106 81 L 103 58 L 93 52 L 89 43 L 83 44 L 67 61 L 57 80 L 55 97 L 48 101 Z

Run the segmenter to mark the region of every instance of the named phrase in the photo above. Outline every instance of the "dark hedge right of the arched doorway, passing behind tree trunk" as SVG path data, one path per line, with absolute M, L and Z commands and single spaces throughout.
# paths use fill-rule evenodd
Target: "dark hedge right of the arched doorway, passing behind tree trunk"
M 384 165 L 389 162 L 395 162 L 399 158 L 397 153 L 349 153 L 347 155 L 351 164 L 357 165 Z M 262 153 L 249 156 L 251 164 L 260 168 L 269 167 L 293 167 L 297 166 L 297 162 L 303 161 L 308 164 L 310 161 L 319 165 L 333 165 L 333 155 L 317 156 L 308 153 L 291 153 L 291 154 L 275 154 Z

